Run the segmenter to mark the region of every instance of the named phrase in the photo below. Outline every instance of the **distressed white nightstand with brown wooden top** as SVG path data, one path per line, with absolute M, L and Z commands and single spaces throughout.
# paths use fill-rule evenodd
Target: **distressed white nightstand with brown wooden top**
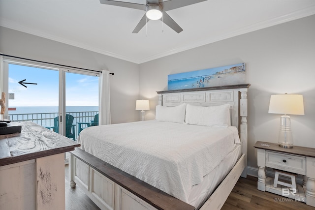
M 269 142 L 256 142 L 258 181 L 257 189 L 282 195 L 315 207 L 315 149 L 294 146 L 291 149 Z M 296 192 L 288 187 L 273 186 L 274 179 L 267 178 L 265 168 L 303 175 L 303 186 L 297 184 Z

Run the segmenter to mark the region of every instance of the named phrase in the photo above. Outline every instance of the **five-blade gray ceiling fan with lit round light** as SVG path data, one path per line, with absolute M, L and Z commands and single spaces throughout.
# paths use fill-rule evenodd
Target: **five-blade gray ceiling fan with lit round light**
M 166 11 L 199 3 L 206 0 L 99 0 L 100 3 L 123 6 L 146 11 L 132 33 L 139 32 L 150 20 L 162 20 L 177 33 L 183 29 L 166 13 Z

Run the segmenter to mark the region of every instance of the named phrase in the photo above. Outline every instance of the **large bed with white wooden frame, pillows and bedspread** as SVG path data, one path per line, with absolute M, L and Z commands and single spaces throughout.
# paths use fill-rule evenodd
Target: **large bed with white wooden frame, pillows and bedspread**
M 158 91 L 156 120 L 83 130 L 71 187 L 100 209 L 221 209 L 247 174 L 249 86 Z

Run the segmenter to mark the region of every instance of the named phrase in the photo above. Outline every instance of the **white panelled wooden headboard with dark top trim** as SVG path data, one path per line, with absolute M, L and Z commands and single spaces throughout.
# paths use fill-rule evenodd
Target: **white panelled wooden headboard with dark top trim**
M 242 84 L 186 90 L 157 91 L 159 94 L 158 104 L 163 106 L 177 106 L 182 103 L 198 106 L 230 104 L 231 125 L 238 128 L 242 143 L 241 150 L 242 153 L 247 155 L 247 91 L 250 86 L 251 84 Z M 247 173 L 247 171 L 244 170 L 243 173 Z

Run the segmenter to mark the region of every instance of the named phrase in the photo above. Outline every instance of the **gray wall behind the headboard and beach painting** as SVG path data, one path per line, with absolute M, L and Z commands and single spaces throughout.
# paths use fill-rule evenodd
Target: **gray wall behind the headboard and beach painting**
M 278 142 L 280 115 L 268 114 L 271 94 L 303 94 L 305 115 L 291 116 L 294 145 L 315 148 L 315 15 L 140 64 L 140 96 L 151 103 L 147 118 L 155 117 L 156 91 L 167 90 L 168 74 L 241 62 L 252 84 L 248 165 L 257 167 L 256 141 Z

